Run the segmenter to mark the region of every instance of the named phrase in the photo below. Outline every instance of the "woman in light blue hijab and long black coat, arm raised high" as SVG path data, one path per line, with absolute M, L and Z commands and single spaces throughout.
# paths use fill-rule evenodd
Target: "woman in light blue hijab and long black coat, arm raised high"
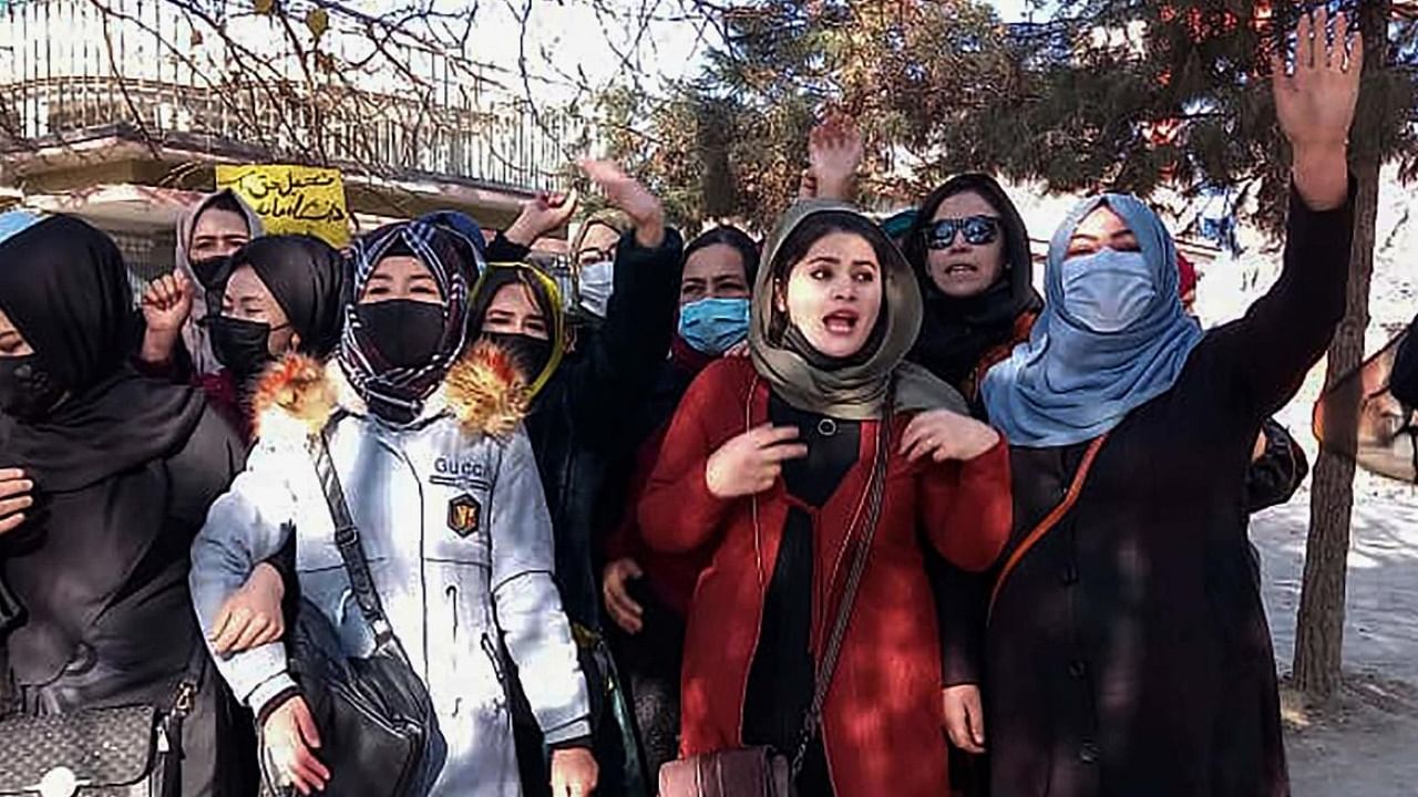
M 1032 336 L 986 376 L 1014 485 L 986 627 L 991 794 L 1289 794 L 1245 475 L 1344 316 L 1361 50 L 1327 21 L 1306 17 L 1276 69 L 1295 162 L 1275 288 L 1202 333 L 1156 213 L 1093 197 L 1054 237 Z

